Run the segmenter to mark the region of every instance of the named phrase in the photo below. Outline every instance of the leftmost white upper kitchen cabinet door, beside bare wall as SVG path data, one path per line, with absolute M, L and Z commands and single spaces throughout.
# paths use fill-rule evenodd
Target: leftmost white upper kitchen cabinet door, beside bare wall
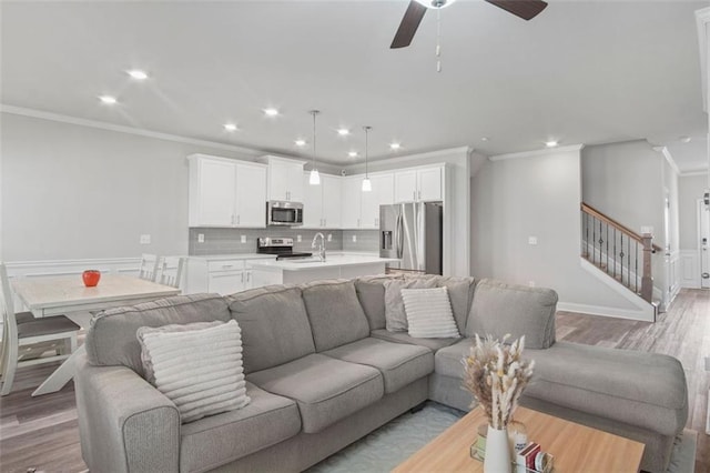
M 193 227 L 232 227 L 235 219 L 236 163 L 201 158 L 191 172 L 196 172 L 194 195 L 196 214 L 191 215 Z

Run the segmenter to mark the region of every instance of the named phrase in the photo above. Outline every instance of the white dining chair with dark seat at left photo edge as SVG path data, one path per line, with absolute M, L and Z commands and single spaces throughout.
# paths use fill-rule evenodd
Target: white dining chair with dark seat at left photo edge
M 34 318 L 30 312 L 14 312 L 14 299 L 10 289 L 8 271 L 0 263 L 2 283 L 2 390 L 7 395 L 12 390 L 14 373 L 20 366 L 49 363 L 68 359 L 77 349 L 80 326 L 65 315 Z M 42 356 L 54 351 L 52 356 Z

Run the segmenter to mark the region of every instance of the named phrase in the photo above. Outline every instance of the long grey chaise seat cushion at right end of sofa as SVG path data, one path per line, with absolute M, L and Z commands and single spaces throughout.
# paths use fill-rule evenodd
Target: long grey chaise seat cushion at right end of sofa
M 535 371 L 524 396 L 638 425 L 665 435 L 688 414 L 683 368 L 672 356 L 558 342 L 526 350 Z

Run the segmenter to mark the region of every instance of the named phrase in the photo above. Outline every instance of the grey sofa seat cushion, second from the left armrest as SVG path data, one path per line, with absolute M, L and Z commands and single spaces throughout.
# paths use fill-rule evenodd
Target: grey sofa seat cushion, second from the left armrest
M 251 373 L 246 379 L 296 401 L 305 433 L 320 432 L 384 394 L 378 370 L 320 353 Z

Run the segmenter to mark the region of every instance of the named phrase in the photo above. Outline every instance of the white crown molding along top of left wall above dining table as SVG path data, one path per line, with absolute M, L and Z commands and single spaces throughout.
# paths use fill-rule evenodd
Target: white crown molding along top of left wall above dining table
M 43 110 L 34 110 L 34 109 L 27 109 L 23 107 L 7 105 L 4 103 L 0 103 L 0 112 L 11 113 L 11 114 L 22 115 L 22 117 L 38 118 L 42 120 L 58 121 L 62 123 L 78 124 L 82 127 L 97 128 L 100 130 L 115 131 L 119 133 L 135 134 L 139 137 L 155 138 L 159 140 L 175 141 L 179 143 L 196 144 L 199 147 L 209 147 L 217 150 L 234 151 L 237 153 L 248 154 L 254 157 L 267 153 L 266 151 L 236 147 L 234 144 L 224 144 L 224 143 L 217 143 L 215 141 L 197 140 L 194 138 L 180 137 L 176 134 L 162 133 L 159 131 L 144 130 L 141 128 L 125 127 L 122 124 L 113 124 L 113 123 L 106 123 L 106 122 L 97 121 L 97 120 L 88 120 L 88 119 L 82 119 L 77 117 L 64 115 L 60 113 L 45 112 Z

